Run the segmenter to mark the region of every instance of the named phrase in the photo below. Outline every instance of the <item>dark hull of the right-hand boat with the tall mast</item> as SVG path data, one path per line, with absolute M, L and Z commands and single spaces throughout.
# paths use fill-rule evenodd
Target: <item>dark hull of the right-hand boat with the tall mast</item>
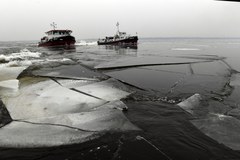
M 132 36 L 132 37 L 128 37 L 125 39 L 120 39 L 120 40 L 105 40 L 105 41 L 98 41 L 98 45 L 136 45 L 138 41 L 138 37 L 137 36 Z

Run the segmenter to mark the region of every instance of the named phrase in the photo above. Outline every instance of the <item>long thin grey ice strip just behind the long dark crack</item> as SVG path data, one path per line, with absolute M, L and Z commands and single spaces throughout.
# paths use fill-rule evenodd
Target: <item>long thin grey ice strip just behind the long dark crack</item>
M 206 59 L 190 59 L 190 58 L 176 58 L 176 57 L 133 57 L 122 58 L 108 63 L 102 63 L 95 66 L 96 69 L 117 69 L 150 65 L 174 65 L 174 64 L 189 64 L 196 62 L 209 62 Z

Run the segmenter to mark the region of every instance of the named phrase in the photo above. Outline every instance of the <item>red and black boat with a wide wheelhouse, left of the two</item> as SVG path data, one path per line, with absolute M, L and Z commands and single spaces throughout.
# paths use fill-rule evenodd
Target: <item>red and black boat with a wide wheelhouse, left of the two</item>
M 56 24 L 51 24 L 53 30 L 46 32 L 39 42 L 39 47 L 71 47 L 74 46 L 76 40 L 75 37 L 71 36 L 71 30 L 58 30 Z

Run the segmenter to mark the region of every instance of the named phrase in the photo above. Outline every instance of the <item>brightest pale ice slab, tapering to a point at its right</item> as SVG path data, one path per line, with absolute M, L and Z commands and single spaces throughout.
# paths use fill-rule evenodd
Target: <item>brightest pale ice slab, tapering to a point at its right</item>
M 106 101 L 60 86 L 44 78 L 20 79 L 19 94 L 3 98 L 13 119 L 29 119 L 89 111 Z

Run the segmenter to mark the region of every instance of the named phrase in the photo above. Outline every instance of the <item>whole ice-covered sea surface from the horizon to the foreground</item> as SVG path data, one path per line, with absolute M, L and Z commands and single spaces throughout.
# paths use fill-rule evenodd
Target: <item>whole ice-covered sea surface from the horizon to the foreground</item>
M 240 39 L 0 43 L 0 159 L 240 159 Z

